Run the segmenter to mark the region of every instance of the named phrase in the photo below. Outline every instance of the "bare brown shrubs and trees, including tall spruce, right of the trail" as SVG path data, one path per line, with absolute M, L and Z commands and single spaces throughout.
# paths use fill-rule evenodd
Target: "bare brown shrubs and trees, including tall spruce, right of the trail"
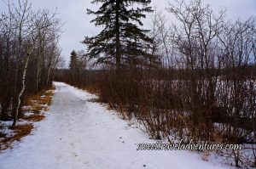
M 84 70 L 84 82 L 73 84 L 96 91 L 124 118 L 137 117 L 151 138 L 243 144 L 218 153 L 256 166 L 255 18 L 227 20 L 201 0 L 175 1 L 167 7 L 172 24 L 155 9 L 147 31 L 139 27 L 153 12 L 150 1 L 93 3 L 102 4 L 88 12 L 103 30 L 85 38 L 85 56 L 103 70 Z

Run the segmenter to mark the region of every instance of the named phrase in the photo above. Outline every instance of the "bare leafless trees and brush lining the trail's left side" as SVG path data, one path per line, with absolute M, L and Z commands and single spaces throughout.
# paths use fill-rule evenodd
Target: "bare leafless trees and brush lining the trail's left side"
M 52 85 L 60 60 L 61 21 L 25 0 L 6 3 L 0 18 L 0 120 L 14 120 L 23 100 Z

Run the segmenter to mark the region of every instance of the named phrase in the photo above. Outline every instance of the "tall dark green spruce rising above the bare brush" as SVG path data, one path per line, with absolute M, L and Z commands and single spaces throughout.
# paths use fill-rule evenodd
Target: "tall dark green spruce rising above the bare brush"
M 85 37 L 90 58 L 96 58 L 97 63 L 115 64 L 119 69 L 122 64 L 131 64 L 147 55 L 146 48 L 152 39 L 147 36 L 148 30 L 139 26 L 143 25 L 144 13 L 153 11 L 148 6 L 151 0 L 93 0 L 91 3 L 102 3 L 97 11 L 87 9 L 87 14 L 96 15 L 91 22 L 104 28 L 95 37 Z

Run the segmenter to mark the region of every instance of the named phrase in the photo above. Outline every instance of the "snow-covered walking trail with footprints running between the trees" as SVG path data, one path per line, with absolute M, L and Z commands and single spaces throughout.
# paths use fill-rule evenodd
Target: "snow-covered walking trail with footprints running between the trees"
M 90 102 L 90 93 L 61 82 L 55 86 L 46 119 L 14 149 L 0 153 L 0 169 L 224 168 L 189 151 L 137 151 L 137 144 L 154 140 L 113 110 Z

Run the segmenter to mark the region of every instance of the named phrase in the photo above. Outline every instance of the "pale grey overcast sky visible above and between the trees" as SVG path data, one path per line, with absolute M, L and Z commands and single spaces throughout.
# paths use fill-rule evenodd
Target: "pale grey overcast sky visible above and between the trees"
M 1 13 L 5 10 L 2 1 L 0 0 Z M 100 30 L 90 23 L 93 16 L 86 14 L 86 8 L 97 8 L 96 5 L 90 4 L 90 0 L 31 0 L 30 2 L 32 8 L 48 8 L 52 11 L 57 9 L 59 18 L 65 23 L 62 27 L 60 47 L 62 48 L 62 55 L 67 61 L 73 49 L 85 50 L 84 44 L 80 43 L 84 36 L 96 35 Z M 166 8 L 169 2 L 172 0 L 152 0 L 152 6 Z M 237 17 L 246 19 L 252 15 L 256 16 L 256 0 L 204 0 L 204 2 L 210 3 L 213 10 L 216 11 L 219 8 L 226 8 L 230 20 L 235 20 Z M 170 14 L 165 14 L 166 19 L 172 20 Z M 149 26 L 150 20 L 145 20 L 144 24 Z

